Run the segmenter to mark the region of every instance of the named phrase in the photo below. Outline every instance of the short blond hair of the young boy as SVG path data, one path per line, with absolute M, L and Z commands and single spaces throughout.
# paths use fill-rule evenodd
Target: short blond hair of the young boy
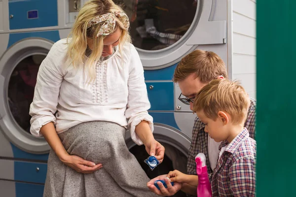
M 223 111 L 230 114 L 233 124 L 241 124 L 247 119 L 249 106 L 249 96 L 239 82 L 215 79 L 196 95 L 193 111 L 203 110 L 212 120 L 216 120 L 218 112 Z

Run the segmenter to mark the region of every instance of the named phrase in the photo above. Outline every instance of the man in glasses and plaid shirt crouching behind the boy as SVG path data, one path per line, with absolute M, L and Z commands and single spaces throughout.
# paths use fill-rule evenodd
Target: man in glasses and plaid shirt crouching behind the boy
M 214 52 L 195 50 L 185 56 L 175 69 L 174 82 L 179 84 L 182 94 L 179 96 L 179 100 L 183 103 L 190 105 L 190 109 L 193 110 L 193 101 L 196 94 L 211 80 L 217 78 L 227 78 L 227 71 L 222 59 Z M 251 105 L 248 112 L 248 117 L 245 122 L 245 127 L 248 129 L 250 137 L 255 139 L 255 118 L 256 118 L 256 101 L 251 100 Z M 189 148 L 188 160 L 187 160 L 187 173 L 190 175 L 196 174 L 195 156 L 198 153 L 204 153 L 206 156 L 206 165 L 208 169 L 209 178 L 214 168 L 216 167 L 219 156 L 220 142 L 215 142 L 208 133 L 204 131 L 204 124 L 195 118 L 192 141 Z M 179 190 L 182 190 L 187 195 L 196 196 L 196 187 L 187 184 L 175 183 L 171 186 L 167 183 L 167 188 L 160 185 L 160 191 L 153 185 L 155 180 L 163 180 L 166 175 L 160 175 L 154 179 L 151 179 L 147 186 L 148 188 L 160 196 L 172 196 Z

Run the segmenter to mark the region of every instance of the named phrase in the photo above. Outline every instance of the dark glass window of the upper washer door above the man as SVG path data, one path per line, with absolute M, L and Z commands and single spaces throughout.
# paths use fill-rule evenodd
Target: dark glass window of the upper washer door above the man
M 113 0 L 130 19 L 135 47 L 155 51 L 178 42 L 195 17 L 196 0 Z

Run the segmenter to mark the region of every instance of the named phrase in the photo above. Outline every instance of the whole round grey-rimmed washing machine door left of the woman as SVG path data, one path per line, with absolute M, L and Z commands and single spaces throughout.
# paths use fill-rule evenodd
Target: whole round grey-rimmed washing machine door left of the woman
M 16 147 L 33 154 L 49 152 L 43 137 L 30 133 L 30 104 L 34 97 L 38 68 L 53 42 L 23 39 L 0 59 L 0 132 Z

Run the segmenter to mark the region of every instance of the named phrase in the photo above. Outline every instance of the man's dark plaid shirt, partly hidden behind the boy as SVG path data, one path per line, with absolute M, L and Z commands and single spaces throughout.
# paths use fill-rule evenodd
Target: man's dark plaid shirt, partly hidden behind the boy
M 245 127 L 249 131 L 250 137 L 255 139 L 255 118 L 256 118 L 256 100 L 250 99 L 251 104 L 248 112 L 248 117 L 245 122 Z M 198 117 L 195 118 L 193 131 L 192 131 L 192 141 L 188 152 L 187 160 L 187 173 L 196 174 L 196 164 L 195 156 L 198 153 L 203 153 L 206 156 L 206 165 L 208 169 L 209 178 L 212 177 L 212 169 L 209 163 L 208 154 L 208 133 L 204 131 L 205 125 L 199 120 Z M 217 158 L 218 159 L 218 158 Z

